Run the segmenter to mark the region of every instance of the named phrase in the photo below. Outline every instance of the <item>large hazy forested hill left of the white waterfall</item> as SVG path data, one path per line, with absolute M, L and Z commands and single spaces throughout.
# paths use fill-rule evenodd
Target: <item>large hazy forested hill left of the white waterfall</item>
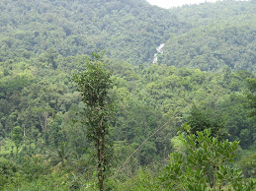
M 142 0 L 4 0 L 0 10 L 2 61 L 48 48 L 63 56 L 99 48 L 134 64 L 147 62 L 181 25 L 167 10 Z

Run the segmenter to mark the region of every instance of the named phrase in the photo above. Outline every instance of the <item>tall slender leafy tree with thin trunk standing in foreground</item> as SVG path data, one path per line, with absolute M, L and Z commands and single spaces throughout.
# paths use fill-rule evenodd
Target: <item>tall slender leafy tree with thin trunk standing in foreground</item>
M 109 96 L 113 88 L 111 72 L 103 68 L 102 57 L 104 52 L 92 53 L 93 58 L 87 58 L 87 69 L 81 74 L 73 74 L 73 81 L 87 105 L 86 123 L 87 137 L 97 152 L 97 170 L 100 190 L 103 190 L 105 171 L 107 168 L 108 143 L 106 135 L 114 116 L 114 106 Z

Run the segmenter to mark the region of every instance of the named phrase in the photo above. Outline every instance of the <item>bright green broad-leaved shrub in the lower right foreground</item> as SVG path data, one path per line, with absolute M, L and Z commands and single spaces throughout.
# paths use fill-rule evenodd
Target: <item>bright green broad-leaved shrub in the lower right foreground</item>
M 244 182 L 240 169 L 229 165 L 235 159 L 238 142 L 218 141 L 211 130 L 198 131 L 197 135 L 180 139 L 188 154 L 170 155 L 170 163 L 160 177 L 164 185 L 175 190 L 252 190 L 253 182 Z

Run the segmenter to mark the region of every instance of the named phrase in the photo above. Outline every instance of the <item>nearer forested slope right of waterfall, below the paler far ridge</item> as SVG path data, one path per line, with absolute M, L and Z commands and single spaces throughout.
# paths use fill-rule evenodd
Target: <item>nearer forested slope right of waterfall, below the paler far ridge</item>
M 198 28 L 182 35 L 174 35 L 166 42 L 160 63 L 177 67 L 199 68 L 202 71 L 219 71 L 227 66 L 232 70 L 255 72 L 255 44 L 253 22 L 216 24 Z M 245 51 L 239 51 L 244 47 Z M 239 52 L 234 53 L 234 52 Z M 245 64 L 246 63 L 246 64 Z

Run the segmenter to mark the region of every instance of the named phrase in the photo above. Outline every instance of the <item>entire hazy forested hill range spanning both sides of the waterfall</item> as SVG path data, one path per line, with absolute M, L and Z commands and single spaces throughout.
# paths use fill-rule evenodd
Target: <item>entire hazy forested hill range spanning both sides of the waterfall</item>
M 106 49 L 132 65 L 158 62 L 255 72 L 255 1 L 221 1 L 164 10 L 144 0 L 9 1 L 0 3 L 0 61 Z M 221 52 L 221 53 L 219 53 Z

